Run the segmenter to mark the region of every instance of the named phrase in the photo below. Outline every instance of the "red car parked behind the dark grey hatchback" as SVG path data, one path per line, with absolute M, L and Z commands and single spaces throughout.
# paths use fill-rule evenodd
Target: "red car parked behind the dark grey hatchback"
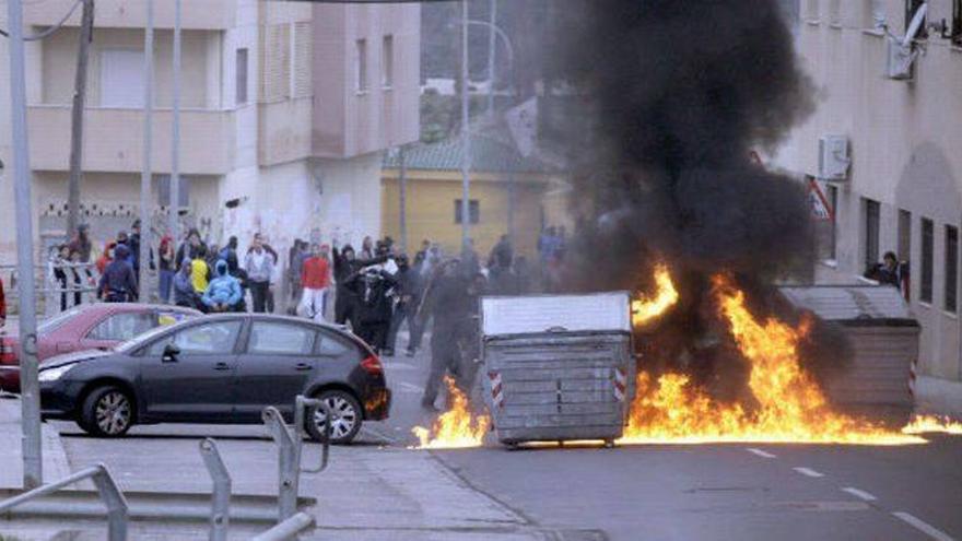
M 105 303 L 78 306 L 37 327 L 37 356 L 45 360 L 84 350 L 108 350 L 156 327 L 201 313 L 176 306 Z M 20 334 L 14 326 L 0 329 L 0 389 L 20 392 Z

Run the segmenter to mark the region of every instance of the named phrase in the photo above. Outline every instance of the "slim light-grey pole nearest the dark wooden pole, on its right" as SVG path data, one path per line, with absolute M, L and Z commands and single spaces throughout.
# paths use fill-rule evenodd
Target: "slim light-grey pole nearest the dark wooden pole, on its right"
M 146 275 L 150 269 L 151 222 L 150 185 L 154 138 L 154 0 L 146 0 L 146 27 L 143 32 L 143 170 L 140 175 L 140 273 L 137 291 L 146 301 Z

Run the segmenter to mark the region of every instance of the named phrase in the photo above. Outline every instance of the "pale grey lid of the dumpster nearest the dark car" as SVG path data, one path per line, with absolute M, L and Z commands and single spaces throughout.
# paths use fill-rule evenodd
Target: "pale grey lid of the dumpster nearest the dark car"
M 537 332 L 631 332 L 626 291 L 586 295 L 488 296 L 481 298 L 485 337 Z

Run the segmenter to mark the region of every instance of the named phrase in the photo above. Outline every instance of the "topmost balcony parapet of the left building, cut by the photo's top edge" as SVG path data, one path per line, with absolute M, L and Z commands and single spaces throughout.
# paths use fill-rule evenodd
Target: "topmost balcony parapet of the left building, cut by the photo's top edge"
M 24 22 L 35 26 L 51 26 L 60 21 L 75 0 L 44 0 L 24 2 Z M 227 30 L 237 23 L 237 0 L 184 0 L 181 25 L 184 30 Z M 146 2 L 143 0 L 97 0 L 94 21 L 99 28 L 142 28 L 146 24 Z M 80 26 L 80 9 L 67 21 L 67 26 Z M 174 27 L 174 2 L 154 2 L 154 25 Z

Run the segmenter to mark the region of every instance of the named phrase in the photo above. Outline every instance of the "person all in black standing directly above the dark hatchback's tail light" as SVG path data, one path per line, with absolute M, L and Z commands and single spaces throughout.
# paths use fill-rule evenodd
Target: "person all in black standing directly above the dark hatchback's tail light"
M 354 333 L 376 353 L 387 344 L 392 311 L 388 293 L 396 285 L 397 279 L 379 266 L 365 267 L 347 280 L 348 289 L 354 293 Z

